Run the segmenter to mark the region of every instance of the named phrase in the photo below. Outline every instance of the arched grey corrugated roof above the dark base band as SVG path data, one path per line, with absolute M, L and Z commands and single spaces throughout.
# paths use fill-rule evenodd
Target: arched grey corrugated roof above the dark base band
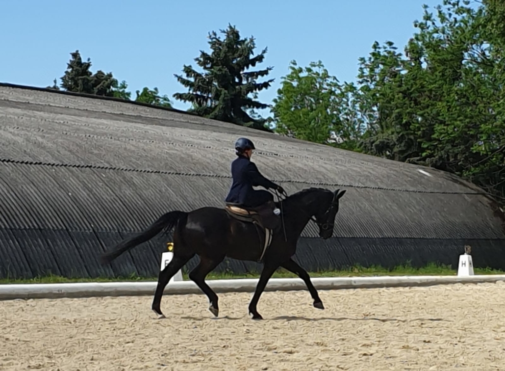
M 233 144 L 288 193 L 346 189 L 337 238 L 505 239 L 484 192 L 450 174 L 183 112 L 0 86 L 0 229 L 131 233 L 222 206 Z M 316 237 L 310 223 L 304 237 Z M 115 241 L 116 242 L 116 241 Z

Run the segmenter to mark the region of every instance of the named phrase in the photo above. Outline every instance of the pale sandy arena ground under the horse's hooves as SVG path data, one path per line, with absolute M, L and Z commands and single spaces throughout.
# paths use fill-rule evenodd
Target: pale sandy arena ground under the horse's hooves
M 0 369 L 498 370 L 505 284 L 0 302 Z

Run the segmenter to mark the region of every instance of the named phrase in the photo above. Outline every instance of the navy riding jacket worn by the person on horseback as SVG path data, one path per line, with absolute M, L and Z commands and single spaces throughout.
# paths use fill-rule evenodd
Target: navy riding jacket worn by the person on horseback
M 258 191 L 255 191 L 252 187 L 277 188 L 277 184 L 264 177 L 258 170 L 258 167 L 256 167 L 256 164 L 244 156 L 238 156 L 231 163 L 231 176 L 233 177 L 233 182 L 230 192 L 226 197 L 226 203 L 238 205 L 253 204 L 255 203 L 255 193 Z

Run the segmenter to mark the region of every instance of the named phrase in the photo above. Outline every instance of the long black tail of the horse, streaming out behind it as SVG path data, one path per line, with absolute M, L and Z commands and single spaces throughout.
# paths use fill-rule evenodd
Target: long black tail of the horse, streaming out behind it
M 122 253 L 150 240 L 163 230 L 165 230 L 165 233 L 168 233 L 177 224 L 179 219 L 186 215 L 187 213 L 184 211 L 170 211 L 160 216 L 158 220 L 149 225 L 142 233 L 121 241 L 112 251 L 100 255 L 100 263 L 110 263 Z

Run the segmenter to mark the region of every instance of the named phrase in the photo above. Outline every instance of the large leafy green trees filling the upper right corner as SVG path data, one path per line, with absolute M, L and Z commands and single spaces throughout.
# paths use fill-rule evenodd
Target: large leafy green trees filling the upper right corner
M 433 166 L 505 197 L 505 6 L 425 6 L 404 54 L 374 43 L 355 87 L 361 149 Z

